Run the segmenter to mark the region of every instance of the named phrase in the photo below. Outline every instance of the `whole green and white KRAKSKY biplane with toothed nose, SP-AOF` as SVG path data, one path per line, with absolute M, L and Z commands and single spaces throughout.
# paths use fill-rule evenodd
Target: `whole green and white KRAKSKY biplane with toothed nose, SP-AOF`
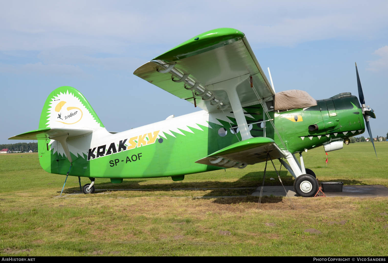
M 369 118 L 376 116 L 365 106 L 358 72 L 361 106 L 349 92 L 322 100 L 298 90 L 275 93 L 236 29 L 199 34 L 134 74 L 203 110 L 108 132 L 85 97 L 65 86 L 47 97 L 38 130 L 10 139 L 38 140 L 43 169 L 90 178 L 84 193 L 94 193 L 95 178 L 179 181 L 185 174 L 279 159 L 295 178 L 296 193 L 314 196 L 319 186 L 302 152 L 322 145 L 326 152 L 342 149 L 365 125 L 372 138 Z

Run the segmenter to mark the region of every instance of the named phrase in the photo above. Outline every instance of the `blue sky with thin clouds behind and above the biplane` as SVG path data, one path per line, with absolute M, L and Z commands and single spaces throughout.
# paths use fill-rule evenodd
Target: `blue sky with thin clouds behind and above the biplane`
M 373 135 L 385 136 L 388 2 L 314 2 L 2 1 L 0 143 L 38 128 L 45 99 L 63 85 L 78 89 L 110 131 L 198 110 L 133 71 L 219 27 L 245 33 L 276 91 L 358 96 L 356 61 L 377 116 Z

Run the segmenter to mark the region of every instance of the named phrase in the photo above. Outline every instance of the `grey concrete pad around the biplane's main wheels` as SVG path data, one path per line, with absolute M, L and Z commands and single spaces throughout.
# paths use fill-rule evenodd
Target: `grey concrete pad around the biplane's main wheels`
M 261 186 L 259 186 L 253 196 L 260 196 Z M 288 196 L 298 196 L 293 186 L 284 186 Z M 286 196 L 283 186 L 264 186 L 262 195 Z M 344 185 L 342 192 L 325 192 L 327 197 L 334 196 L 353 196 L 353 197 L 380 197 L 388 196 L 388 188 L 383 185 Z

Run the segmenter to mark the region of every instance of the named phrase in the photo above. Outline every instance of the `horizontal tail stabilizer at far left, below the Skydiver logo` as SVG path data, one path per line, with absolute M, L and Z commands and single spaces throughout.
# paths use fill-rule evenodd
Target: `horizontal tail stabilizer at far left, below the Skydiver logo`
M 31 132 L 22 133 L 8 140 L 38 140 L 58 137 L 62 135 L 69 135 L 68 138 L 84 135 L 93 132 L 92 130 L 79 130 L 79 129 L 64 129 L 64 128 L 41 128 L 33 130 Z

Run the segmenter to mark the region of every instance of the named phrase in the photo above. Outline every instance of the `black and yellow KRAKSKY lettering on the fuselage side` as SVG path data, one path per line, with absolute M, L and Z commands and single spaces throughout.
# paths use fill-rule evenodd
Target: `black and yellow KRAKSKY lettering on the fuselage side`
M 131 137 L 129 140 L 128 138 L 126 138 L 125 140 L 120 140 L 119 143 L 112 142 L 109 144 L 109 146 L 107 146 L 108 144 L 104 144 L 94 148 L 90 148 L 88 151 L 87 161 L 90 161 L 91 159 L 96 159 L 99 157 L 111 155 L 111 154 L 116 154 L 118 152 L 122 152 L 125 150 L 131 150 L 134 148 L 150 145 L 152 143 L 155 143 L 156 138 L 158 137 L 158 134 L 159 134 L 159 131 L 156 131 L 153 133 L 149 132 L 143 135 Z M 126 143 L 128 143 L 129 146 L 126 145 Z

